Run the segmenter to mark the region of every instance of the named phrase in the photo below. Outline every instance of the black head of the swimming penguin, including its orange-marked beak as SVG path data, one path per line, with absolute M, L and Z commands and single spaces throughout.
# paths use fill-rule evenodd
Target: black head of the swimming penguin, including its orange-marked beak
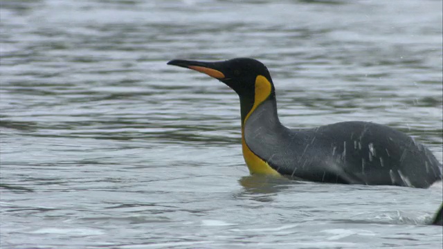
M 194 69 L 201 73 L 206 73 L 217 80 L 224 82 L 233 89 L 240 98 L 253 95 L 255 91 L 255 81 L 261 75 L 273 84 L 268 68 L 262 62 L 250 58 L 235 58 L 224 62 L 197 62 L 183 59 L 173 59 L 168 65 L 181 66 Z

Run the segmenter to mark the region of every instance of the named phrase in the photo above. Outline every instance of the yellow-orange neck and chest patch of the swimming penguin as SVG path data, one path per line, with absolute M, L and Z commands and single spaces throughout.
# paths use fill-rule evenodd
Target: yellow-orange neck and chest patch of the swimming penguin
M 273 176 L 280 176 L 280 173 L 278 173 L 262 158 L 255 155 L 254 152 L 249 149 L 248 145 L 246 145 L 246 140 L 244 139 L 244 125 L 246 124 L 246 121 L 248 120 L 249 116 L 251 116 L 251 114 L 255 111 L 255 109 L 257 109 L 258 105 L 269 97 L 271 91 L 271 82 L 269 82 L 269 80 L 266 80 L 266 77 L 258 75 L 255 78 L 254 104 L 251 108 L 251 111 L 249 111 L 246 115 L 246 118 L 244 118 L 244 123 L 242 124 L 242 150 L 244 161 L 246 162 L 246 165 L 248 165 L 248 169 L 251 174 L 269 174 Z

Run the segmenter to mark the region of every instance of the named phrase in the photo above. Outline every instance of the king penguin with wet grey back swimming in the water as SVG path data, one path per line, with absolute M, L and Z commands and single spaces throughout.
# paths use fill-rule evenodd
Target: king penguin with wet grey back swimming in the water
M 442 165 L 431 151 L 386 125 L 352 121 L 312 129 L 284 127 L 271 75 L 256 59 L 174 59 L 168 64 L 206 73 L 239 95 L 242 150 L 251 174 L 422 188 L 442 180 Z

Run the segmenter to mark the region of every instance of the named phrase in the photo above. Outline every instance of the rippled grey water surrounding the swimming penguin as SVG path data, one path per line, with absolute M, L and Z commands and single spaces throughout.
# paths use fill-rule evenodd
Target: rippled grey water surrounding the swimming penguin
M 442 183 L 248 176 L 255 57 L 291 128 L 388 124 L 442 160 L 442 1 L 2 1 L 1 248 L 442 248 Z

